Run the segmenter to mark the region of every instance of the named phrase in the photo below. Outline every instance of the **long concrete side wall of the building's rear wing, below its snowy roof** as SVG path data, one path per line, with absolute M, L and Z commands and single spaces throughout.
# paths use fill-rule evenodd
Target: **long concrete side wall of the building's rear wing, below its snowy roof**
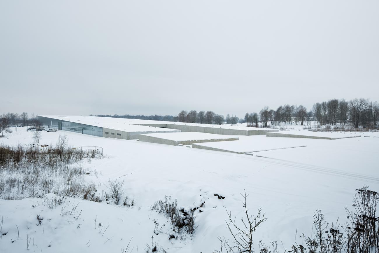
M 267 132 L 277 132 L 278 129 L 265 129 L 265 130 L 242 130 L 242 129 L 228 129 L 219 127 L 208 127 L 208 126 L 190 126 L 190 125 L 180 125 L 180 124 L 139 124 L 141 126 L 153 126 L 153 127 L 165 127 L 170 129 L 178 129 L 182 132 L 200 132 L 207 134 L 223 134 L 223 135 L 263 135 Z M 164 126 L 163 126 L 164 125 Z M 226 126 L 227 127 L 227 126 Z

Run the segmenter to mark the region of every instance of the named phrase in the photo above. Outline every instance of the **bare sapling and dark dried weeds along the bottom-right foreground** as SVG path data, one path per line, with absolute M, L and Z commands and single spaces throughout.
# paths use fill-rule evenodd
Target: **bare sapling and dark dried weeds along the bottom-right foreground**
M 229 220 L 227 227 L 229 228 L 232 240 L 229 242 L 225 237 L 219 237 L 221 247 L 214 250 L 213 253 L 232 253 L 232 252 L 254 252 L 252 248 L 252 232 L 258 225 L 266 220 L 264 214 L 260 215 L 260 210 L 256 217 L 248 215 L 246 209 L 246 193 L 244 195 L 244 218 L 241 218 L 240 225 L 235 223 L 228 213 Z M 345 210 L 348 214 L 345 225 L 340 223 L 329 223 L 325 220 L 321 210 L 316 210 L 313 215 L 313 235 L 307 237 L 303 234 L 303 242 L 305 245 L 292 245 L 288 253 L 363 253 L 363 252 L 379 252 L 379 218 L 376 214 L 379 204 L 379 193 L 368 190 L 365 185 L 361 189 L 356 190 L 353 198 L 353 211 Z M 295 236 L 296 238 L 296 236 Z M 259 241 L 261 253 L 278 253 L 277 242 L 271 242 L 271 246 L 265 245 Z

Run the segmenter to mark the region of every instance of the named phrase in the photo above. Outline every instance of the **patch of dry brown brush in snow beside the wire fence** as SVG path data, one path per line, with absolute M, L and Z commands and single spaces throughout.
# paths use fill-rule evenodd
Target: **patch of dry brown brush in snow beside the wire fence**
M 16 148 L 0 146 L 0 198 L 18 200 L 40 198 L 47 193 L 96 200 L 96 187 L 84 178 L 81 167 L 74 166 L 87 151 Z M 62 158 L 62 160 L 61 160 Z

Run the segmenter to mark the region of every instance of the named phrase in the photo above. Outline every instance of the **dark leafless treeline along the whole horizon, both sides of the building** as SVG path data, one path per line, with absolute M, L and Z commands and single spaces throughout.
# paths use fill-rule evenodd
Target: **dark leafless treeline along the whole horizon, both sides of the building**
M 317 102 L 312 109 L 307 110 L 303 105 L 281 105 L 276 110 L 265 106 L 260 112 L 246 113 L 244 118 L 217 114 L 213 111 L 182 110 L 177 116 L 172 115 L 92 115 L 99 117 L 127 118 L 127 119 L 147 119 L 157 121 L 187 122 L 201 124 L 237 124 L 247 123 L 251 127 L 269 127 L 285 124 L 299 124 L 315 121 L 317 125 L 348 125 L 377 129 L 379 121 L 379 105 L 377 101 L 369 99 L 329 99 L 324 102 Z M 7 126 L 30 126 L 36 125 L 38 121 L 32 113 L 31 118 L 28 113 L 5 113 L 0 115 L 0 132 Z

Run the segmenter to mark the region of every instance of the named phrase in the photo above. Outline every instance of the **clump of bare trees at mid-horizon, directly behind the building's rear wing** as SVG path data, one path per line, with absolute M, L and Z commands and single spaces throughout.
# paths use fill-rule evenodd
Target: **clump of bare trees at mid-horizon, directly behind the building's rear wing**
M 189 112 L 182 110 L 178 114 L 179 122 L 187 122 L 187 123 L 200 123 L 200 124 L 217 124 L 222 125 L 224 123 L 227 124 L 237 124 L 239 118 L 237 116 L 230 116 L 229 113 L 224 118 L 224 115 L 214 113 L 213 111 L 200 111 L 191 110 Z

